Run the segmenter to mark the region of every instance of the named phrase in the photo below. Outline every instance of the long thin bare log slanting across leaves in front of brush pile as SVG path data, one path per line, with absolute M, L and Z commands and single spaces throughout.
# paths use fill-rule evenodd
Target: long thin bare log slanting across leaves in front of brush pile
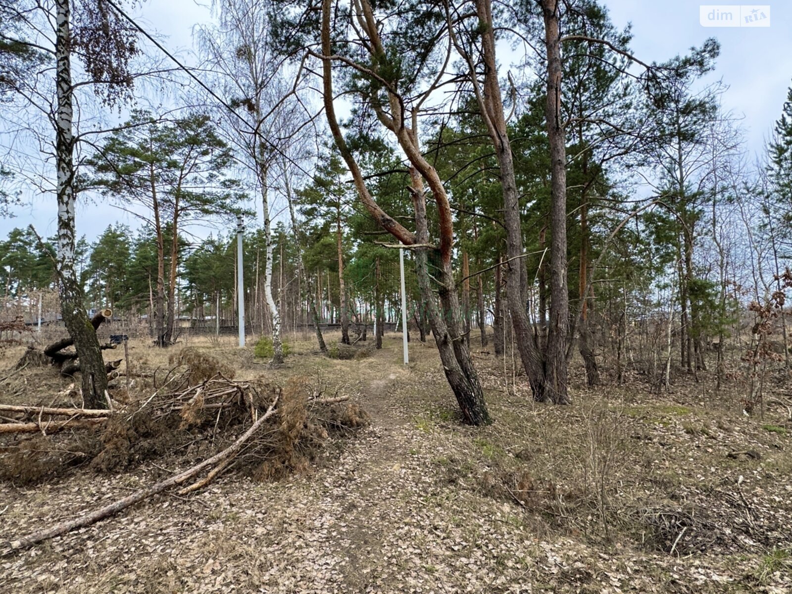
M 135 505 L 136 503 L 147 499 L 148 497 L 162 493 L 162 491 L 165 491 L 166 489 L 169 489 L 175 485 L 181 485 L 181 483 L 196 476 L 196 474 L 200 473 L 201 470 L 209 468 L 210 466 L 214 466 L 218 463 L 223 463 L 225 460 L 236 455 L 237 452 L 242 449 L 242 446 L 246 444 L 246 442 L 258 431 L 259 428 L 261 428 L 261 425 L 264 425 L 267 419 L 275 414 L 275 407 L 277 406 L 279 398 L 280 394 L 276 396 L 275 400 L 272 401 L 272 404 L 267 409 L 267 412 L 261 415 L 258 421 L 253 423 L 253 425 L 251 425 L 246 432 L 239 436 L 238 440 L 234 441 L 234 443 L 225 450 L 219 452 L 219 454 L 213 455 L 211 458 L 204 460 L 204 462 L 197 464 L 196 466 L 192 466 L 192 468 L 188 468 L 184 472 L 173 474 L 173 476 L 166 478 L 164 481 L 154 483 L 154 485 L 151 485 L 146 489 L 139 489 L 128 497 L 119 499 L 110 505 L 105 505 L 103 508 L 95 509 L 93 512 L 88 512 L 72 520 L 67 520 L 66 522 L 55 524 L 55 526 L 32 532 L 29 535 L 21 537 L 20 539 L 12 540 L 7 543 L 8 550 L 3 550 L 0 552 L 0 554 L 6 555 L 14 550 L 25 549 L 29 546 L 43 543 L 45 540 L 53 539 L 55 536 L 67 534 L 68 532 L 76 530 L 77 528 L 84 528 L 86 526 L 96 524 L 100 520 L 104 520 L 109 516 L 113 516 L 116 513 L 130 507 L 131 505 Z

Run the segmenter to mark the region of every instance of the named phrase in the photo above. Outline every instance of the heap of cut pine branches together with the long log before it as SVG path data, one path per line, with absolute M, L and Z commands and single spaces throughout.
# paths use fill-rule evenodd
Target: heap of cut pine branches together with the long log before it
M 0 405 L 0 433 L 42 433 L 3 448 L 0 479 L 11 482 L 40 482 L 75 465 L 117 470 L 198 442 L 211 448 L 202 462 L 111 505 L 11 540 L 5 553 L 89 526 L 166 489 L 181 486 L 180 495 L 201 489 L 232 468 L 260 480 L 305 470 L 329 432 L 367 423 L 367 414 L 346 402 L 348 397 L 322 398 L 324 390 L 305 378 L 281 387 L 234 381 L 216 366 L 214 371 L 191 383 L 202 375 L 200 369 L 172 370 L 149 398 L 112 411 Z M 239 427 L 247 424 L 240 434 Z M 50 435 L 64 428 L 88 431 Z

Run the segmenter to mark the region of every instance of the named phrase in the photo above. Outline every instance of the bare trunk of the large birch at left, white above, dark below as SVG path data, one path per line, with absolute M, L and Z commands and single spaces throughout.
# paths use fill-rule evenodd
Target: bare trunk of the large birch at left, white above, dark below
M 69 0 L 55 2 L 55 158 L 57 169 L 57 272 L 61 315 L 82 362 L 82 399 L 88 408 L 105 408 L 107 373 L 96 330 L 82 306 L 83 292 L 74 270 L 74 135 L 72 123 L 71 32 Z

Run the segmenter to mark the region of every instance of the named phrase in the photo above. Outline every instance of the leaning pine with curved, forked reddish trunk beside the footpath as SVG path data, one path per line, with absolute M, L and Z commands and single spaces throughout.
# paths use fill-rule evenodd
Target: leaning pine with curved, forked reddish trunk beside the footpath
M 413 98 L 411 109 L 407 108 L 406 97 L 409 94 L 411 82 L 421 78 L 420 71 L 407 74 L 406 63 L 398 64 L 398 56 L 404 55 L 404 48 L 400 44 L 411 44 L 412 40 L 400 36 L 384 36 L 384 31 L 401 30 L 393 29 L 398 23 L 385 23 L 391 17 L 375 16 L 375 9 L 367 0 L 356 2 L 357 13 L 352 15 L 341 10 L 333 10 L 333 0 L 322 2 L 321 40 L 322 53 L 314 56 L 322 61 L 322 97 L 324 100 L 325 114 L 333 133 L 333 140 L 337 149 L 344 158 L 360 201 L 368 213 L 383 230 L 397 238 L 406 246 L 413 246 L 416 251 L 417 274 L 421 287 L 422 305 L 428 309 L 429 322 L 432 333 L 440 352 L 440 360 L 451 390 L 453 390 L 464 420 L 470 425 L 487 425 L 491 422 L 489 412 L 484 400 L 482 384 L 470 356 L 470 349 L 463 336 L 463 320 L 459 306 L 454 270 L 451 257 L 454 249 L 454 227 L 451 215 L 451 204 L 447 192 L 432 163 L 422 154 L 417 134 L 417 120 L 421 104 L 428 98 L 436 87 L 432 85 L 425 93 L 420 93 L 419 98 Z M 417 22 L 426 31 L 413 31 L 417 36 L 429 34 L 428 29 L 438 25 L 435 17 L 422 19 L 425 12 L 417 7 L 415 16 Z M 333 21 L 333 14 L 337 15 Z M 356 22 L 352 22 L 355 20 Z M 412 29 L 406 27 L 406 29 Z M 333 34 L 338 40 L 345 40 L 348 35 L 360 36 L 361 47 L 367 48 L 367 58 L 364 63 L 356 62 L 344 55 L 333 54 Z M 344 42 L 339 43 L 341 48 Z M 431 51 L 431 50 L 429 50 Z M 352 80 L 353 92 L 360 93 L 364 105 L 371 109 L 368 115 L 373 115 L 383 127 L 390 131 L 398 141 L 399 147 L 404 151 L 409 161 L 410 177 L 412 180 L 409 189 L 413 195 L 415 210 L 415 223 L 417 233 L 413 233 L 388 215 L 372 198 L 363 173 L 358 166 L 352 150 L 349 149 L 341 127 L 338 124 L 333 105 L 333 61 L 343 64 L 342 68 L 355 71 L 360 79 Z M 418 70 L 425 62 L 411 64 Z M 440 80 L 440 76 L 437 77 Z M 415 90 L 415 89 L 413 89 Z M 423 98 L 421 98 L 423 97 Z M 437 207 L 439 223 L 440 245 L 432 246 L 428 243 L 428 220 L 425 209 L 425 194 L 423 184 L 428 185 Z M 437 270 L 436 280 L 430 278 L 427 268 L 428 253 L 436 254 Z M 432 284 L 437 286 L 436 301 Z

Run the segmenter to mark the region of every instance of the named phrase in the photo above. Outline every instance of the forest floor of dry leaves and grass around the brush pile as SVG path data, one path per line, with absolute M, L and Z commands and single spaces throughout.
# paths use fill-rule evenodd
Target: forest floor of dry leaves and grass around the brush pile
M 353 360 L 295 341 L 278 369 L 251 349 L 206 348 L 238 378 L 321 378 L 371 424 L 303 474 L 229 474 L 0 558 L 0 591 L 792 592 L 792 423 L 780 408 L 745 416 L 738 390 L 716 394 L 709 375 L 650 394 L 605 370 L 585 390 L 576 365 L 574 404 L 548 406 L 511 360 L 474 346 L 495 422 L 472 428 L 436 349 L 411 343 L 405 367 L 395 335 Z M 131 356 L 162 357 L 142 344 Z M 64 381 L 25 369 L 0 381 L 0 402 L 49 404 Z M 0 540 L 186 466 L 172 452 L 123 473 L 0 483 Z

